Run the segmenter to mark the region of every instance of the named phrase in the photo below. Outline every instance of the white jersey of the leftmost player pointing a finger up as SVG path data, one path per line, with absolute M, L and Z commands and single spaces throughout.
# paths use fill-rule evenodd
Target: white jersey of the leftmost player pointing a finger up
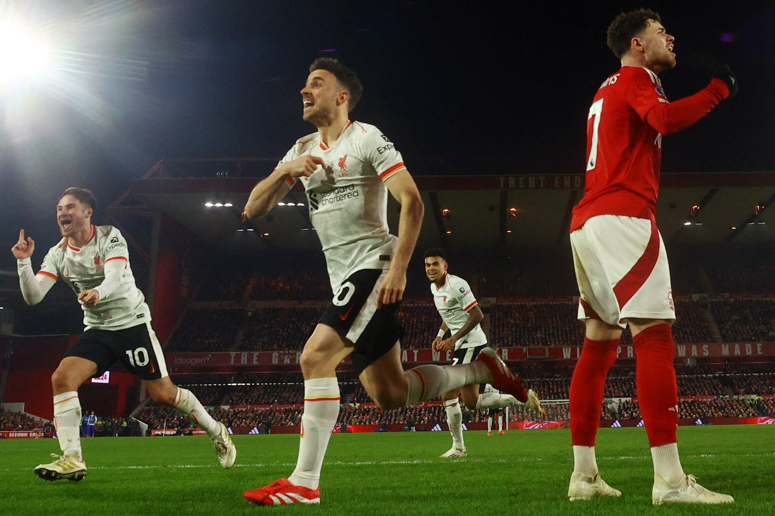
M 129 267 L 126 240 L 112 225 L 92 225 L 91 238 L 80 248 L 61 239 L 49 249 L 38 274 L 54 281 L 61 278 L 78 294 L 102 284 L 105 263 L 111 260 L 126 262 L 121 283 L 105 299 L 100 299 L 97 306 L 81 304 L 85 329 L 119 330 L 150 322 L 150 310 Z

